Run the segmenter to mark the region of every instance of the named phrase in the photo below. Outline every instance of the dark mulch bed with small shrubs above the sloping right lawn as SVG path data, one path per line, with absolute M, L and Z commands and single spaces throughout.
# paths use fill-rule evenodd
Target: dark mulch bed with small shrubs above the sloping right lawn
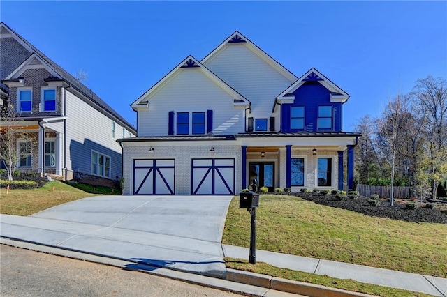
M 363 196 L 359 196 L 357 199 L 344 199 L 339 201 L 335 198 L 335 195 L 321 195 L 315 193 L 287 193 L 287 195 L 298 196 L 318 204 L 343 208 L 375 217 L 403 220 L 406 222 L 447 224 L 447 215 L 434 208 L 429 209 L 417 206 L 415 209 L 408 209 L 404 204 L 400 203 L 394 203 L 393 206 L 390 206 L 390 202 L 383 199 L 381 199 L 381 204 L 379 206 L 370 206 L 368 204 L 369 198 Z

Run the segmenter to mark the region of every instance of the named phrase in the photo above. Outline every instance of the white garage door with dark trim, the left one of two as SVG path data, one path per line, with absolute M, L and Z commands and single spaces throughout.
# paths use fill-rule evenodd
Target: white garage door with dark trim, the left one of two
M 133 195 L 174 195 L 174 159 L 133 160 Z

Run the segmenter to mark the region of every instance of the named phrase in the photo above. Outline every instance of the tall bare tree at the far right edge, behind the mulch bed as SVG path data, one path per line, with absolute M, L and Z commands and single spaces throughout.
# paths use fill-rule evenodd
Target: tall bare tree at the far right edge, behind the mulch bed
M 420 110 L 425 114 L 424 130 L 429 152 L 432 198 L 436 199 L 439 180 L 447 176 L 447 83 L 441 77 L 419 79 L 413 89 Z

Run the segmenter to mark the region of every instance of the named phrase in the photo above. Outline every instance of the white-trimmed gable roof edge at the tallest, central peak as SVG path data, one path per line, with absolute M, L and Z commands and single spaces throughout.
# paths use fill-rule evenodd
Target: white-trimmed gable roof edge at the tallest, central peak
M 214 59 L 214 57 L 216 57 L 220 52 L 222 52 L 227 46 L 230 46 L 230 45 L 236 44 L 236 43 L 238 43 L 238 44 L 242 43 L 245 46 L 247 46 L 249 48 L 249 50 L 251 50 L 252 52 L 257 54 L 261 59 L 263 59 L 266 63 L 268 63 L 270 66 L 272 66 L 274 69 L 276 69 L 279 73 L 281 73 L 281 75 L 284 75 L 284 77 L 286 77 L 291 82 L 295 82 L 295 80 L 298 79 L 298 77 L 293 75 L 293 73 L 291 73 L 287 68 L 282 66 L 278 61 L 276 61 L 271 56 L 269 56 L 266 52 L 261 50 L 260 47 L 258 47 L 254 43 L 252 43 L 249 40 L 249 38 L 243 36 L 239 31 L 235 31 L 235 33 L 231 34 L 228 38 L 226 38 L 226 40 L 223 40 L 223 43 L 221 43 L 212 52 L 210 52 L 210 54 L 207 54 L 207 56 L 205 56 L 205 58 L 203 58 L 202 61 L 200 61 L 200 62 L 206 66 L 207 63 L 212 61 L 212 59 Z

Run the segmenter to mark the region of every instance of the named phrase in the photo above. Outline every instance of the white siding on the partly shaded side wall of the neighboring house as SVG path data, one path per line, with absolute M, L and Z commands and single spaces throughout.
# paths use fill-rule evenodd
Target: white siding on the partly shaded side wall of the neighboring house
M 122 126 L 115 123 L 115 138 L 112 137 L 112 122 L 94 107 L 88 105 L 67 90 L 67 156 L 68 170 L 91 174 L 91 151 L 110 157 L 110 178 L 122 174 L 122 149 L 116 142 L 122 138 Z M 126 137 L 129 137 L 129 132 Z

